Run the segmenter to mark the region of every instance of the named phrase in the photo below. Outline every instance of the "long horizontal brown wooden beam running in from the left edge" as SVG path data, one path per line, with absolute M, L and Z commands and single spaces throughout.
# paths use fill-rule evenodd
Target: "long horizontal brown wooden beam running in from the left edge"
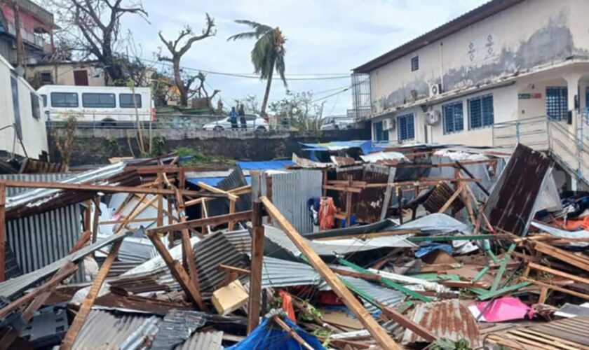
M 174 190 L 169 188 L 140 188 L 131 186 L 105 186 L 90 185 L 88 183 L 61 183 L 61 182 L 42 182 L 42 181 L 5 181 L 6 187 L 24 187 L 24 188 L 53 188 L 56 190 L 76 190 L 103 193 L 139 193 L 145 195 L 174 195 Z M 215 194 L 203 194 L 198 191 L 183 190 L 182 195 L 200 197 L 224 197 Z

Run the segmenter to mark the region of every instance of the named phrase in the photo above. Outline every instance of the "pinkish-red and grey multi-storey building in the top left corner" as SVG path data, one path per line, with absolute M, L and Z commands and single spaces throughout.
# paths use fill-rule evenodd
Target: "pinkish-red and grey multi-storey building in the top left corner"
M 54 51 L 53 13 L 30 0 L 16 0 L 16 4 L 25 64 L 40 62 Z M 0 1 L 0 55 L 13 65 L 17 61 L 16 27 L 12 1 Z

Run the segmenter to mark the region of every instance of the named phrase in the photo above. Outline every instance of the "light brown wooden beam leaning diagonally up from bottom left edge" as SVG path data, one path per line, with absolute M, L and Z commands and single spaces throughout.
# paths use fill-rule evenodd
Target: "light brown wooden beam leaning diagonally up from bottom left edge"
M 60 350 L 69 350 L 72 349 L 72 346 L 74 346 L 76 337 L 78 337 L 78 333 L 82 329 L 82 325 L 84 322 L 86 322 L 86 317 L 88 317 L 88 314 L 90 314 L 90 309 L 92 308 L 92 305 L 94 304 L 94 301 L 100 292 L 100 288 L 102 288 L 102 283 L 104 282 L 104 279 L 107 278 L 107 274 L 109 273 L 109 269 L 112 266 L 116 255 L 119 254 L 119 248 L 121 248 L 121 244 L 123 244 L 123 239 L 116 241 L 113 244 L 109 255 L 107 255 L 107 258 L 104 260 L 104 262 L 102 262 L 102 266 L 100 267 L 100 270 L 98 271 L 98 274 L 96 275 L 94 282 L 88 291 L 88 295 L 86 295 L 86 298 L 84 298 L 80 309 L 74 318 L 74 321 L 72 321 L 72 324 L 69 325 L 69 329 L 67 330 L 67 333 L 63 339 Z

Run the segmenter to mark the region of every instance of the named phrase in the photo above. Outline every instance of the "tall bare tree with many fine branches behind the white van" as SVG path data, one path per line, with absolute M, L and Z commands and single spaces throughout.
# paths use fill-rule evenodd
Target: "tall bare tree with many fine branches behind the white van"
M 117 45 L 121 39 L 121 17 L 126 13 L 147 12 L 138 1 L 123 0 L 53 0 L 57 20 L 63 27 L 72 50 L 83 58 L 95 57 L 112 80 L 124 80 Z

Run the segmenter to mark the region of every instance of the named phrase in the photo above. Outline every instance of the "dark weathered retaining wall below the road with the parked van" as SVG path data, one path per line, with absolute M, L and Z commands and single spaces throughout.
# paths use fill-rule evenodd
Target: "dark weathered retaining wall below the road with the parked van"
M 62 132 L 63 130 L 60 130 Z M 135 155 L 138 155 L 134 130 L 78 130 L 76 148 L 70 165 L 105 164 L 111 157 L 130 156 L 128 134 Z M 154 136 L 163 140 L 162 153 L 179 146 L 191 147 L 211 156 L 236 160 L 272 160 L 302 155 L 299 143 L 370 139 L 370 130 L 329 130 L 315 132 L 212 132 L 205 130 L 156 130 Z M 147 142 L 147 134 L 144 137 Z M 50 159 L 59 162 L 59 154 L 50 138 Z

